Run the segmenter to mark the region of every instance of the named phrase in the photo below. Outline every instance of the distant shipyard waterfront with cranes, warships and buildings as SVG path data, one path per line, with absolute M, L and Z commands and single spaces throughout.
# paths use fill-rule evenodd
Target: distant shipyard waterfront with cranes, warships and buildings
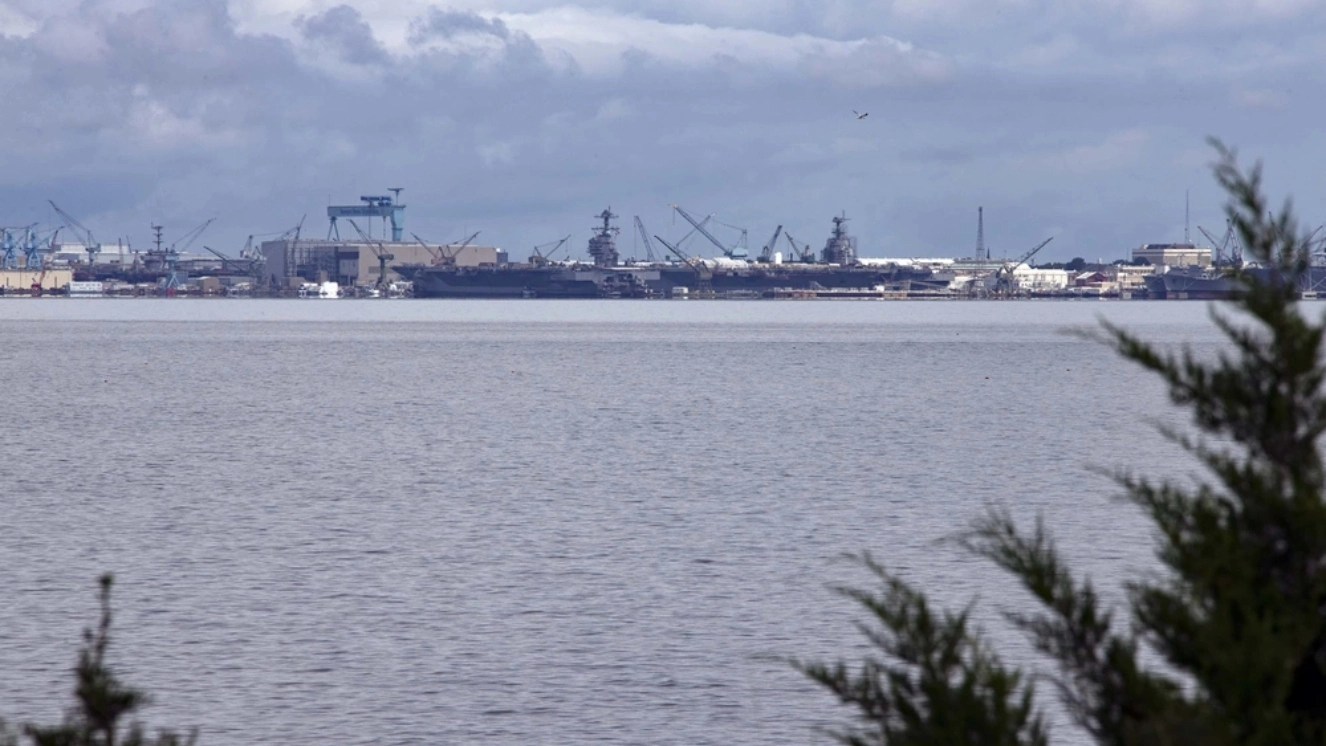
M 481 231 L 428 241 L 406 229 L 402 189 L 329 205 L 325 237 L 304 220 L 265 239 L 249 236 L 237 254 L 191 246 L 211 220 L 167 239 L 152 225 L 143 252 L 98 241 L 76 217 L 52 207 L 64 225 L 0 228 L 0 294 L 17 297 L 290 297 L 333 298 L 655 298 L 655 299 L 1219 299 L 1231 274 L 1258 272 L 1227 231 L 1208 245 L 1142 244 L 1127 256 L 1089 264 L 1036 264 L 1054 237 L 994 257 L 977 208 L 975 248 L 953 257 L 880 256 L 849 231 L 846 213 L 826 217 L 817 248 L 780 224 L 762 244 L 749 232 L 670 205 L 688 231 L 664 239 L 631 219 L 633 254 L 618 246 L 619 215 L 605 208 L 587 232 L 534 245 L 526 256 L 484 244 Z M 375 228 L 377 227 L 377 228 Z M 1200 227 L 1199 227 L 1200 228 Z M 724 237 L 721 233 L 727 231 Z M 733 233 L 735 231 L 735 233 Z M 577 239 L 577 235 L 581 236 Z M 60 236 L 65 236 L 61 241 Z M 70 239 L 72 237 L 72 239 Z M 638 241 L 638 242 L 636 242 Z M 1303 297 L 1326 292 L 1326 254 L 1299 278 Z M 896 252 L 898 249 L 892 249 Z

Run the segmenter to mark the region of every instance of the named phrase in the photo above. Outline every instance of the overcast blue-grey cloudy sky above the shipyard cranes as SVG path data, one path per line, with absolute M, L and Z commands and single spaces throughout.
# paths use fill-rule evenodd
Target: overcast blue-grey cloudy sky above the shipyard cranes
M 865 256 L 1118 258 L 1223 232 L 1205 135 L 1326 221 L 1319 0 L 0 0 L 0 221 L 146 246 L 406 228 L 522 258 L 668 204 Z M 853 110 L 869 111 L 857 119 Z M 731 229 L 723 228 L 728 235 Z M 727 239 L 727 236 L 724 236 Z

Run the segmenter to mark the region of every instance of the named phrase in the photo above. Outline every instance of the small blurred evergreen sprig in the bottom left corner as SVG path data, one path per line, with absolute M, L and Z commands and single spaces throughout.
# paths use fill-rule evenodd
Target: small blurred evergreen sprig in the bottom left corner
M 101 623 L 97 629 L 84 631 L 84 648 L 78 652 L 74 669 L 74 706 L 65 721 L 53 726 L 27 725 L 24 735 L 32 746 L 184 746 L 196 742 L 196 733 L 184 738 L 174 731 L 162 731 L 156 738 L 143 734 L 137 721 L 125 718 L 150 702 L 147 694 L 126 686 L 106 665 L 110 645 L 110 575 L 101 578 Z M 0 721 L 0 746 L 17 746 L 17 738 Z

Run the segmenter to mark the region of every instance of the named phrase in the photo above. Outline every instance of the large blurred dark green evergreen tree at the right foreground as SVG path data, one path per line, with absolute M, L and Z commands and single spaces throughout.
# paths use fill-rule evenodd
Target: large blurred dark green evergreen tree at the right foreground
M 1268 212 L 1261 166 L 1212 140 L 1227 213 L 1265 272 L 1238 270 L 1237 315 L 1212 309 L 1225 352 L 1163 352 L 1113 325 L 1095 337 L 1159 375 L 1199 435 L 1166 431 L 1205 469 L 1196 486 L 1115 476 L 1155 523 L 1164 572 L 1127 584 L 1128 623 L 1075 578 L 1046 527 L 1005 511 L 960 543 L 1012 572 L 1038 608 L 1008 617 L 1055 665 L 1074 722 L 1103 745 L 1326 743 L 1326 431 L 1323 325 L 1303 317 L 1309 240 L 1286 201 Z M 1030 677 L 968 624 L 863 558 L 880 591 L 843 590 L 867 610 L 878 655 L 857 666 L 794 663 L 855 708 L 846 743 L 1045 743 Z M 1159 653 L 1148 666 L 1140 652 Z

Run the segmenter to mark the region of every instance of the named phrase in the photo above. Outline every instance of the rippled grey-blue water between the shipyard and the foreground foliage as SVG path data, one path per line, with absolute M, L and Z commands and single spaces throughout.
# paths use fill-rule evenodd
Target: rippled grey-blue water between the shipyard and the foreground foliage
M 113 659 L 204 745 L 829 742 L 778 657 L 861 652 L 842 553 L 1014 659 L 1021 596 L 937 542 L 984 505 L 1150 566 L 1087 468 L 1192 468 L 1062 334 L 1098 315 L 1215 341 L 1200 303 L 3 301 L 0 716 L 60 717 L 114 571 Z

